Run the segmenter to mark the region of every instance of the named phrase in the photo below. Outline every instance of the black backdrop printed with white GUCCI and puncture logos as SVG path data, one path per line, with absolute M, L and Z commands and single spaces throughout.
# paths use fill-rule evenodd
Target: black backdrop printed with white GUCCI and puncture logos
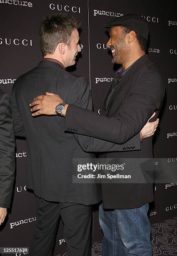
M 0 88 L 10 94 L 15 79 L 37 66 L 42 59 L 39 28 L 42 18 L 63 12 L 82 21 L 82 52 L 74 67 L 68 68 L 90 81 L 94 111 L 98 112 L 107 85 L 115 77 L 116 68 L 106 47 L 108 35 L 103 27 L 108 20 L 128 13 L 142 15 L 150 28 L 147 53 L 156 64 L 166 87 L 155 135 L 155 157 L 167 158 L 169 168 L 177 163 L 177 2 L 176 0 L 0 0 Z M 29 102 L 27 102 L 28 104 Z M 29 247 L 36 221 L 32 191 L 25 185 L 25 140 L 16 139 L 16 181 L 12 207 L 5 225 L 0 228 L 0 246 Z M 150 205 L 150 221 L 158 222 L 177 216 L 177 180 L 155 184 L 155 202 Z M 121 195 L 117 195 L 121 196 Z M 93 211 L 92 242 L 102 240 L 98 210 Z M 56 256 L 66 255 L 63 225 L 60 223 Z M 12 254 L 10 254 L 12 255 Z M 17 254 L 20 256 L 20 254 Z

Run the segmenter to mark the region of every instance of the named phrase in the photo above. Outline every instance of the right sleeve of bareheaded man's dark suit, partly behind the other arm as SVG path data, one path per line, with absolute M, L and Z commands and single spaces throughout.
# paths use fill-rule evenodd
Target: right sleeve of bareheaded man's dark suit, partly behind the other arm
M 70 99 L 71 95 L 71 99 Z M 74 98 L 74 95 L 76 96 Z M 78 107 L 92 110 L 92 97 L 90 94 L 90 88 L 87 81 L 81 77 L 71 87 L 67 101 L 72 100 L 72 104 Z M 87 152 L 108 152 L 108 151 L 129 151 L 140 150 L 140 134 L 138 133 L 125 144 L 116 144 L 109 141 L 84 136 L 73 133 L 75 139 L 80 144 L 82 149 Z

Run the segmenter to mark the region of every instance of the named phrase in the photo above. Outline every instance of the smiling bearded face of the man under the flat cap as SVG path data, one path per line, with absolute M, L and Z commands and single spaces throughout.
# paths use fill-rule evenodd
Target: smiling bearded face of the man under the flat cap
M 125 41 L 125 34 L 121 27 L 112 27 L 110 29 L 110 39 L 107 42 L 107 47 L 112 51 L 112 62 L 123 64 L 127 61 L 130 49 Z

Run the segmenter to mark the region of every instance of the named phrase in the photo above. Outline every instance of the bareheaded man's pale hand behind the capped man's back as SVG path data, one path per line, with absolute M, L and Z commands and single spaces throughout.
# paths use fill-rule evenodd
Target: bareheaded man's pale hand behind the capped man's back
M 155 116 L 155 113 L 150 117 L 153 118 Z M 154 122 L 150 122 L 150 119 L 147 121 L 145 126 L 142 128 L 141 133 L 142 133 L 142 138 L 148 138 L 152 135 L 154 135 L 158 123 L 159 123 L 159 118 L 157 118 Z

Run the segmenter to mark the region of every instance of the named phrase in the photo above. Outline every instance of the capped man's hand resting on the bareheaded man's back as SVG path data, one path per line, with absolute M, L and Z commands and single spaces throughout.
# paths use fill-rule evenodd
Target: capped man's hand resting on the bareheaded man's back
M 46 92 L 46 95 L 38 95 L 30 103 L 32 116 L 37 115 L 57 115 L 55 108 L 64 100 L 59 95 L 52 92 Z M 62 115 L 65 116 L 68 104 L 65 105 Z

